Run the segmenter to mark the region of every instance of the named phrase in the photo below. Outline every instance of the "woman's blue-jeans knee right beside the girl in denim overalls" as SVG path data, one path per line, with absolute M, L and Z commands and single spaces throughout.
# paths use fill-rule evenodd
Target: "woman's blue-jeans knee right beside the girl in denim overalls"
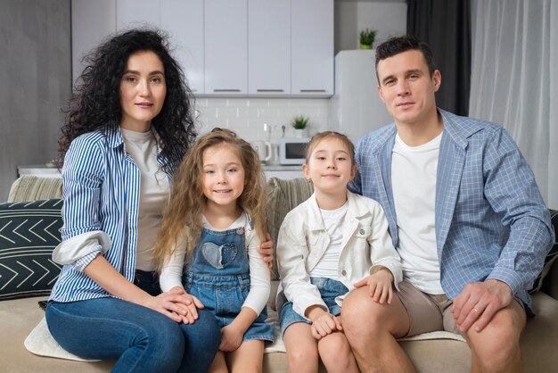
M 219 344 L 221 328 L 211 311 L 198 309 L 198 319 L 193 324 L 179 324 L 185 335 L 184 359 L 179 372 L 205 373 L 211 365 Z

